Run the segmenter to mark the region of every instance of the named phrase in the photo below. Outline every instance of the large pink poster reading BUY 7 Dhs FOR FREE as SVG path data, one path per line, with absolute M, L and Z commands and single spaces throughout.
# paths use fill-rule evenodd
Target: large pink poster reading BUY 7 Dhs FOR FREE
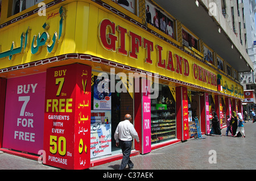
M 3 148 L 43 150 L 46 73 L 7 80 Z

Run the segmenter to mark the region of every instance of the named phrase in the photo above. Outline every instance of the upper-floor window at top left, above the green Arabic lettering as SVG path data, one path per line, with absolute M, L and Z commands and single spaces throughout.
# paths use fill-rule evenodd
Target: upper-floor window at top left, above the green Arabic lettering
M 13 0 L 13 15 L 37 5 L 44 0 Z

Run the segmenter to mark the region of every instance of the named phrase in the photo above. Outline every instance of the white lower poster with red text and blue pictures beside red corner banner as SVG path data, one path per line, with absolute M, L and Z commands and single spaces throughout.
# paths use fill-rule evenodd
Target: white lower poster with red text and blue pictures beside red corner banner
M 91 111 L 90 158 L 111 154 L 111 111 Z

